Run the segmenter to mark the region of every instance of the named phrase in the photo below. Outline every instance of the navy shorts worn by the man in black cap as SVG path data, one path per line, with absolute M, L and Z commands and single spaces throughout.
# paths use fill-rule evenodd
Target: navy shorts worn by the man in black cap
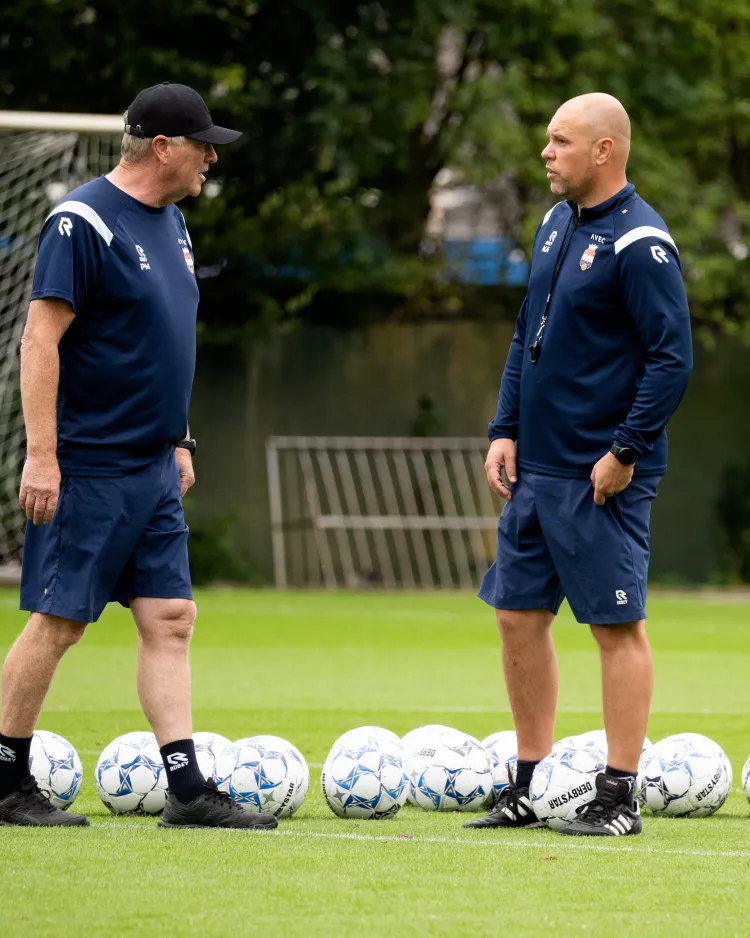
M 48 525 L 26 525 L 21 609 L 96 622 L 109 602 L 192 599 L 174 449 L 115 478 L 63 476 Z

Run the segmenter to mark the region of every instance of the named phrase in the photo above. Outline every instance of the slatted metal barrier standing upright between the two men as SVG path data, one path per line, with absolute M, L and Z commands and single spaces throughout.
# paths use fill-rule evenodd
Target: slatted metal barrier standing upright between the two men
M 475 438 L 271 437 L 276 586 L 475 588 L 502 507 L 486 453 Z

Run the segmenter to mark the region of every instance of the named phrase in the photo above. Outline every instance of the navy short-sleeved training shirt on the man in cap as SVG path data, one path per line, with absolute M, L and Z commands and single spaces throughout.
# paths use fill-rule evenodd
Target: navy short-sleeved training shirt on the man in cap
M 198 286 L 175 205 L 151 208 L 104 176 L 68 193 L 42 227 L 31 298 L 59 297 L 58 460 L 116 476 L 185 437 Z

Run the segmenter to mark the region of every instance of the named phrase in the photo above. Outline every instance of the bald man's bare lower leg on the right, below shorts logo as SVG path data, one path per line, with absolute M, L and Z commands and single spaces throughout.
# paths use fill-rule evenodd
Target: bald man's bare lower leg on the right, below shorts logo
M 602 661 L 607 762 L 635 775 L 648 728 L 654 691 L 654 665 L 645 620 L 624 625 L 592 625 Z

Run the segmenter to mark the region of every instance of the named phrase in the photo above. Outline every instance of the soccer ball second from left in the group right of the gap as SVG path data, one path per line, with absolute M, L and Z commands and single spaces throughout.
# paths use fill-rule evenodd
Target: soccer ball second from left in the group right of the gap
M 409 766 L 414 800 L 425 811 L 473 811 L 492 791 L 487 750 L 459 730 L 422 737 Z

